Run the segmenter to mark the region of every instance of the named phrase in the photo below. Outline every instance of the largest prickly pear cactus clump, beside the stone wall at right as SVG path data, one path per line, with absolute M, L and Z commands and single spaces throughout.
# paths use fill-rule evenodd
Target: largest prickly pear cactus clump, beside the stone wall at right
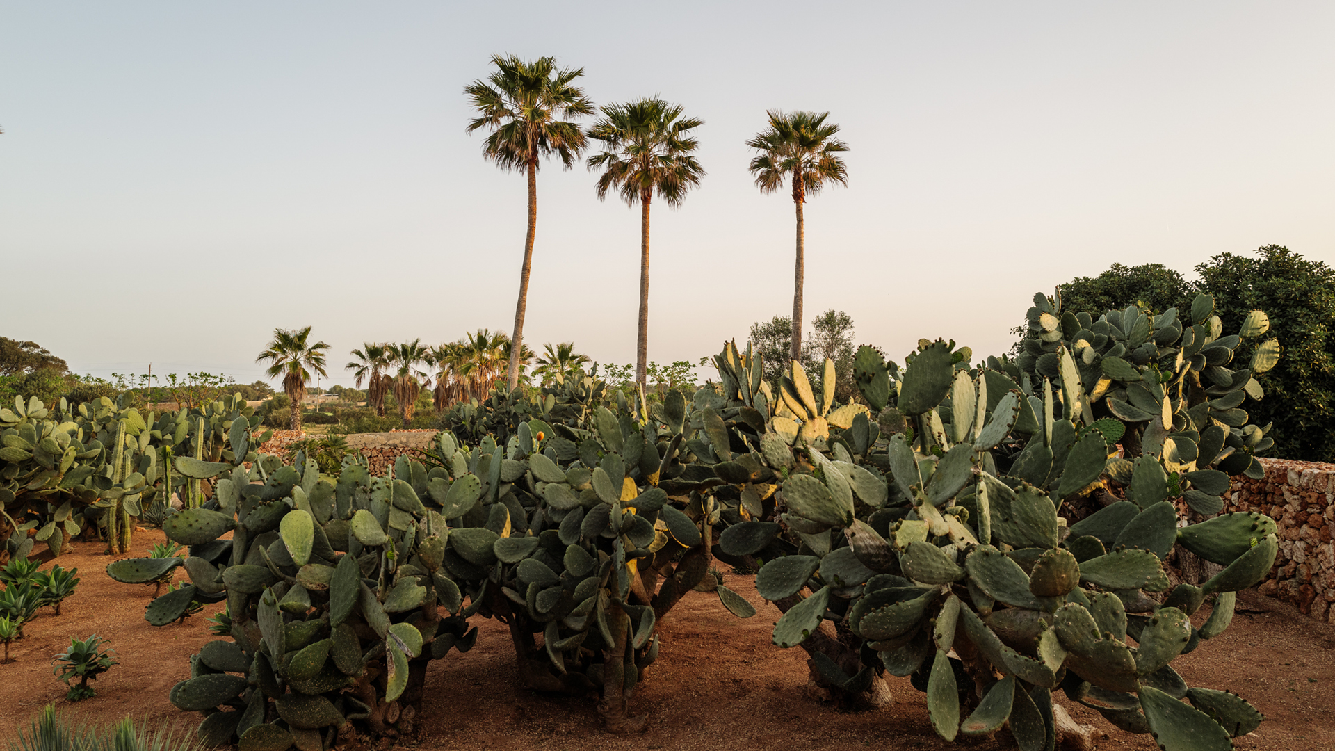
M 876 420 L 858 412 L 828 430 L 817 418 L 838 409 L 797 366 L 766 414 L 761 390 L 742 386 L 749 358 L 725 349 L 721 409 L 758 414 L 717 433 L 701 424 L 716 453 L 697 456 L 726 480 L 732 464 L 758 468 L 714 489 L 746 517 L 721 532 L 718 555 L 762 561 L 757 591 L 784 611 L 774 644 L 804 647 L 818 683 L 852 704 L 886 672 L 910 676 L 945 739 L 1009 724 L 1021 748 L 1051 747 L 1053 691 L 1169 751 L 1230 748 L 1254 730 L 1243 699 L 1189 688 L 1171 665 L 1223 632 L 1235 592 L 1278 549 L 1260 514 L 1179 528 L 1187 509 L 1218 513 L 1230 476 L 1267 446 L 1239 409 L 1259 396 L 1248 371 L 1224 367 L 1238 337 L 1220 337 L 1210 305 L 1193 305 L 1189 334 L 1176 311 L 1056 325 L 1048 313 L 1044 351 L 1020 363 L 972 366 L 953 342 L 922 341 L 900 371 L 864 347 L 856 377 Z M 1080 326 L 1067 333 L 1067 318 Z M 1063 504 L 1095 492 L 1112 502 L 1068 527 Z M 1175 545 L 1224 569 L 1169 591 Z

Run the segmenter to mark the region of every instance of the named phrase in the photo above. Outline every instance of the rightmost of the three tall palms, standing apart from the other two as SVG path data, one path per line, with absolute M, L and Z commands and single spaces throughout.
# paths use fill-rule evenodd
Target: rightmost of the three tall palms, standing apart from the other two
M 769 130 L 756 134 L 746 146 L 760 154 L 750 162 L 750 172 L 761 192 L 773 192 L 790 180 L 797 206 L 797 267 L 793 273 L 793 343 L 792 359 L 802 353 L 802 277 L 805 267 L 802 204 L 806 194 L 816 195 L 826 180 L 848 186 L 848 168 L 838 158 L 848 144 L 837 140 L 838 126 L 825 123 L 829 112 L 780 112 L 770 110 Z

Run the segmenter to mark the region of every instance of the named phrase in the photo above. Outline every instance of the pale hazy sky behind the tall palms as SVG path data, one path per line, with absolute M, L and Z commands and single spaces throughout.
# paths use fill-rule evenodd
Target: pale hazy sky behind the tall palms
M 525 180 L 465 134 L 493 53 L 659 95 L 709 172 L 657 204 L 649 357 L 792 309 L 793 204 L 745 140 L 829 111 L 849 184 L 806 204 L 806 313 L 999 354 L 1035 291 L 1287 245 L 1335 263 L 1335 4 L 0 0 L 0 335 L 73 370 L 254 381 L 311 325 L 509 331 Z M 638 208 L 546 164 L 525 339 L 631 362 Z

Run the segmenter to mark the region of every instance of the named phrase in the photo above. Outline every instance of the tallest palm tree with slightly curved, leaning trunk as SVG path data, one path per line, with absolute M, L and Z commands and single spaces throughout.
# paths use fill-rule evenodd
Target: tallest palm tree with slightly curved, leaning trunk
M 467 132 L 491 131 L 482 154 L 505 170 L 522 170 L 529 176 L 529 234 L 519 267 L 519 301 L 514 309 L 514 335 L 521 346 L 511 353 L 510 389 L 519 385 L 518 357 L 523 351 L 523 314 L 529 301 L 529 270 L 533 266 L 533 238 L 538 229 L 538 158 L 557 155 L 569 170 L 585 148 L 585 135 L 567 118 L 593 114 L 593 100 L 571 82 L 583 68 L 557 69 L 554 57 L 525 61 L 514 55 L 494 55 L 495 72 L 475 80 L 463 92 L 478 116 Z

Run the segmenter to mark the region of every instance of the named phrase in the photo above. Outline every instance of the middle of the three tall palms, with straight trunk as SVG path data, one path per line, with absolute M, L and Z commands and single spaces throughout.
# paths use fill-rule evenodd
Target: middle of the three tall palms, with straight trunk
M 605 144 L 589 158 L 589 168 L 602 168 L 598 198 L 618 188 L 626 206 L 639 203 L 639 335 L 635 341 L 635 382 L 645 385 L 649 362 L 649 202 L 654 192 L 678 206 L 686 191 L 705 175 L 692 155 L 700 146 L 688 132 L 705 124 L 698 118 L 682 118 L 680 104 L 662 99 L 637 99 L 609 104 L 603 118 L 589 130 L 589 138 Z

